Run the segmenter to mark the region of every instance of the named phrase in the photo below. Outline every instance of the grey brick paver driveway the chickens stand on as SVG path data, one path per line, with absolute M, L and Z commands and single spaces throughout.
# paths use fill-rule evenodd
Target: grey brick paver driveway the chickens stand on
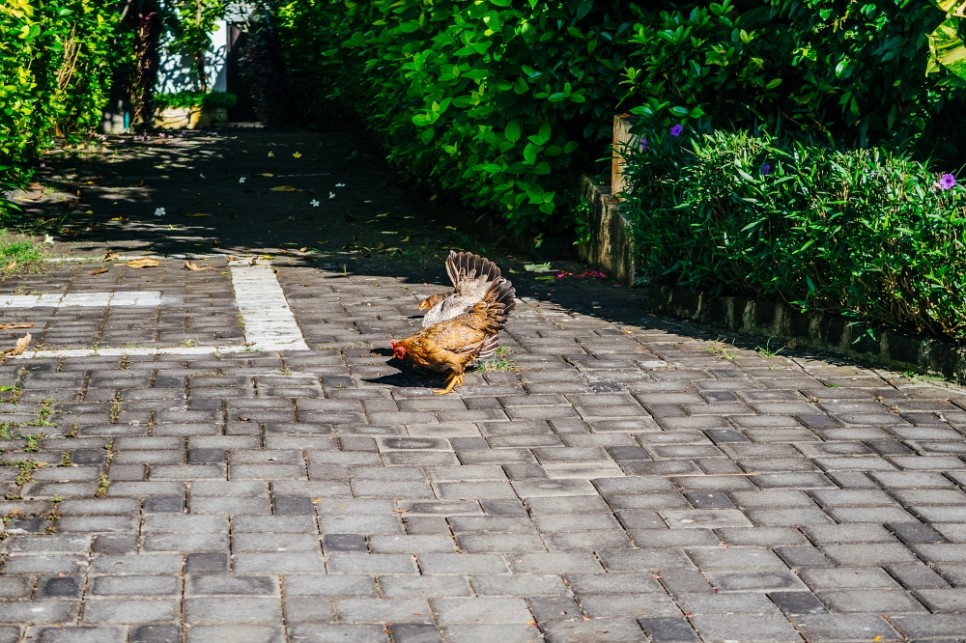
M 70 261 L 0 284 L 41 351 L 0 365 L 0 642 L 966 637 L 962 389 L 547 279 L 348 135 L 49 165 Z M 467 245 L 512 271 L 513 368 L 436 396 L 388 341 Z M 286 327 L 253 261 L 310 350 L 251 346 Z

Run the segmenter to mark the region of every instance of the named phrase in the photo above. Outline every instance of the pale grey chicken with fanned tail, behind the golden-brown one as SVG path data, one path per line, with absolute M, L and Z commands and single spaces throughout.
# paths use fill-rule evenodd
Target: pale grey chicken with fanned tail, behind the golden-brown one
M 423 328 L 472 310 L 483 299 L 490 284 L 500 279 L 500 268 L 471 252 L 450 250 L 446 257 L 446 274 L 453 282 L 453 292 L 430 295 L 419 302 L 419 310 L 426 312 Z M 514 305 L 511 300 L 504 312 L 509 313 Z

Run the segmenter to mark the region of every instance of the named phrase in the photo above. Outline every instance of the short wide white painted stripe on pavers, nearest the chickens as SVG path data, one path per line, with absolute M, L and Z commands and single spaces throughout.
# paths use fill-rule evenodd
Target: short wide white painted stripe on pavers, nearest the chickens
M 309 350 L 271 264 L 232 261 L 231 285 L 245 341 L 254 350 Z

